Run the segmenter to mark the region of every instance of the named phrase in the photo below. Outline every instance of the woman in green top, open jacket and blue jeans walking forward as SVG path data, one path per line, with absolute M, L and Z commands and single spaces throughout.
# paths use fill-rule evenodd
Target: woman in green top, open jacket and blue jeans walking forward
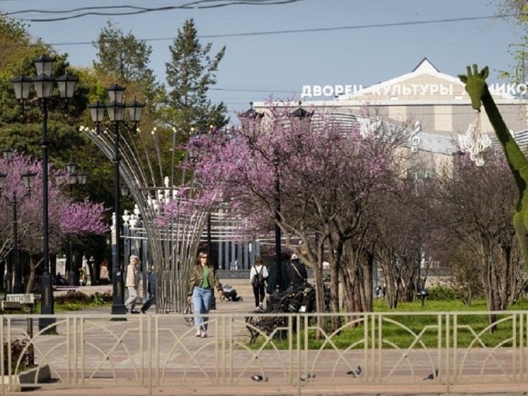
M 207 315 L 211 308 L 212 288 L 218 290 L 218 300 L 222 301 L 222 283 L 218 280 L 214 267 L 209 264 L 207 251 L 198 252 L 196 263 L 190 268 L 189 284 L 188 301 L 193 301 L 195 336 L 206 338 L 208 318 L 204 315 Z

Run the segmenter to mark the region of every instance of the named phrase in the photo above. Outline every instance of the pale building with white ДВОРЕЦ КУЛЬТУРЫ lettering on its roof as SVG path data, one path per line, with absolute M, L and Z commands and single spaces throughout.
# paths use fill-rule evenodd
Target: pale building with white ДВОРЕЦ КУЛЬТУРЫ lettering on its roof
M 460 73 L 466 74 L 465 67 Z M 528 142 L 528 101 L 517 94 L 524 93 L 526 86 L 493 81 L 488 81 L 488 86 L 506 125 L 524 146 Z M 431 159 L 437 154 L 450 157 L 458 152 L 459 135 L 465 135 L 470 125 L 476 123 L 477 112 L 471 108 L 464 84 L 458 77 L 441 73 L 426 58 L 407 74 L 349 91 L 333 100 L 304 101 L 302 106 L 315 114 L 331 113 L 350 123 L 380 118 L 412 125 L 408 146 L 422 154 L 430 153 Z M 263 102 L 254 103 L 256 111 L 265 111 L 265 107 Z M 482 135 L 488 135 L 498 145 L 485 111 L 481 112 L 480 124 Z

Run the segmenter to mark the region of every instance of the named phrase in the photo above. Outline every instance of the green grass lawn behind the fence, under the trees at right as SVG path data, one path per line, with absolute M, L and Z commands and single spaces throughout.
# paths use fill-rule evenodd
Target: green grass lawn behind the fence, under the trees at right
M 464 348 L 494 347 L 527 344 L 527 315 L 528 300 L 522 299 L 510 307 L 510 311 L 527 311 L 524 315 L 517 315 L 512 319 L 509 312 L 499 312 L 496 315 L 497 326 L 494 331 L 489 329 L 489 315 L 486 311 L 486 301 L 476 300 L 471 306 L 463 305 L 459 301 L 421 300 L 399 303 L 396 310 L 389 310 L 386 301 L 379 299 L 374 303 L 374 313 L 384 315 L 370 316 L 365 325 L 362 321 L 355 325 L 345 325 L 340 332 L 333 335 L 327 330 L 326 339 L 316 339 L 316 329 L 309 329 L 309 349 L 331 348 L 332 343 L 339 349 L 352 346 L 354 349 L 379 348 L 436 348 L 453 347 Z M 411 313 L 412 312 L 412 313 Z M 449 315 L 447 315 L 449 313 Z M 522 318 L 522 320 L 520 320 Z M 515 322 L 515 323 L 514 323 Z M 515 326 L 515 332 L 514 330 Z M 367 336 L 365 336 L 365 331 Z M 304 330 L 302 330 L 304 339 Z M 279 348 L 287 348 L 287 340 L 274 340 Z M 264 337 L 258 337 L 257 346 L 261 346 Z M 368 345 L 365 345 L 367 343 Z M 323 346 L 324 344 L 324 346 Z

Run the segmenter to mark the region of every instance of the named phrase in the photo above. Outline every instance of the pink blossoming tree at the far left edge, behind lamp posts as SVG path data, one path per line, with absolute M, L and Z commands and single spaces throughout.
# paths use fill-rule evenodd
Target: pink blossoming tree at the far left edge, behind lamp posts
M 0 171 L 6 174 L 6 183 L 1 191 L 0 222 L 11 225 L 13 221 L 12 203 L 13 193 L 17 198 L 18 249 L 25 252 L 30 261 L 30 277 L 27 290 L 31 290 L 35 279 L 35 270 L 42 260 L 42 164 L 14 153 L 11 162 L 0 159 Z M 25 171 L 36 174 L 35 186 L 30 195 L 26 195 L 21 175 Z M 83 238 L 91 234 L 103 234 L 108 226 L 103 222 L 104 208 L 101 204 L 84 200 L 76 203 L 67 196 L 67 176 L 51 168 L 48 170 L 50 184 L 49 193 L 49 232 L 50 253 L 57 253 L 62 242 L 69 237 Z M 11 227 L 0 230 L 0 259 L 6 259 L 13 247 L 13 231 Z

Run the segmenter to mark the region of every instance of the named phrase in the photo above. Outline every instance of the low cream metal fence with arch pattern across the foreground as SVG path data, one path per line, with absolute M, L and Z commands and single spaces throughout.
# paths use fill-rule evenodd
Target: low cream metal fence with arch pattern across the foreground
M 481 324 L 489 312 L 369 313 L 348 320 L 324 315 L 326 323 L 340 319 L 333 332 L 317 327 L 316 315 L 212 313 L 205 339 L 195 337 L 179 314 L 68 313 L 52 315 L 55 328 L 33 335 L 33 322 L 50 315 L 4 315 L 0 336 L 9 344 L 29 340 L 25 351 L 32 348 L 35 365 L 49 368 L 54 379 L 39 384 L 44 389 L 131 387 L 137 395 L 165 388 L 190 395 L 197 387 L 230 395 L 251 394 L 253 387 L 297 395 L 335 394 L 351 385 L 363 392 L 522 389 L 528 381 L 528 312 L 495 313 L 493 334 Z M 425 326 L 414 324 L 426 320 Z M 253 344 L 250 330 L 260 333 Z M 0 349 L 0 368 L 8 373 L 0 385 L 13 383 L 21 371 L 11 350 Z M 5 394 L 10 388 L 1 389 Z

